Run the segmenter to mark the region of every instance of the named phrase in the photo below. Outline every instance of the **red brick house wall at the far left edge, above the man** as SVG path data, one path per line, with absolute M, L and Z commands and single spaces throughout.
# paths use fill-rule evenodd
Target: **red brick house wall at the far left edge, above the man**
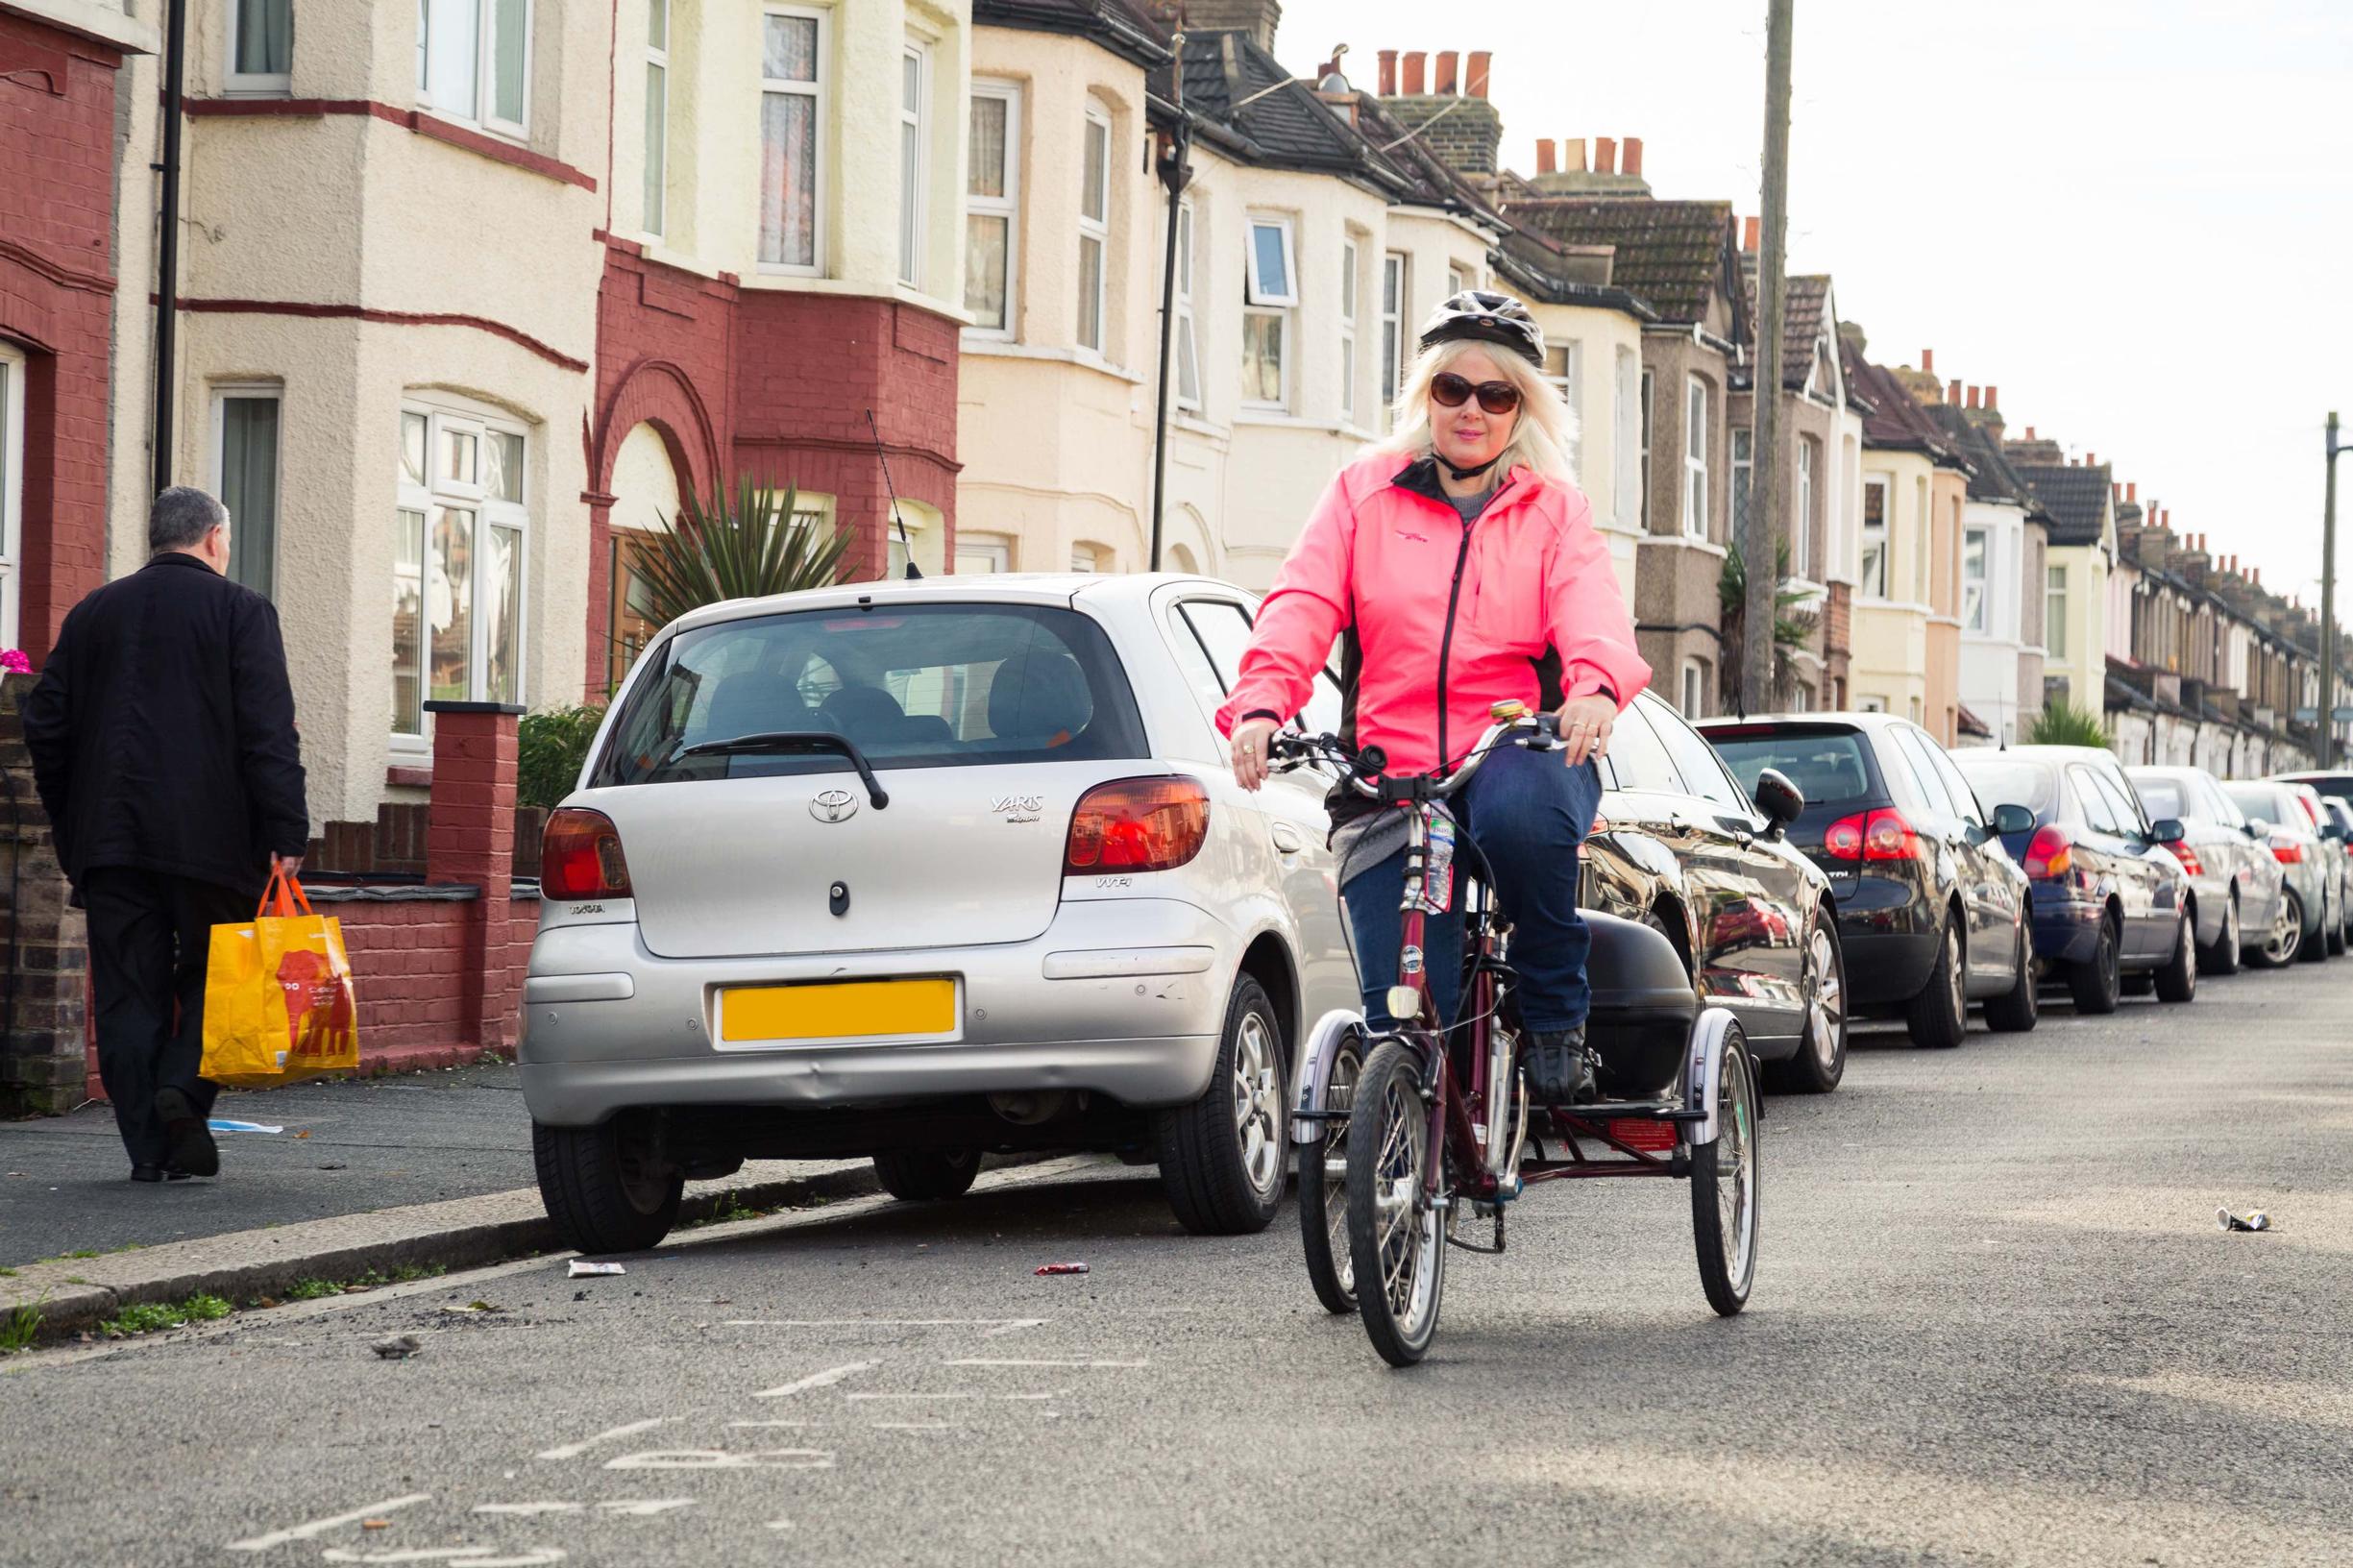
M 38 666 L 106 577 L 115 71 L 0 9 L 0 341 L 26 356 L 19 643 Z

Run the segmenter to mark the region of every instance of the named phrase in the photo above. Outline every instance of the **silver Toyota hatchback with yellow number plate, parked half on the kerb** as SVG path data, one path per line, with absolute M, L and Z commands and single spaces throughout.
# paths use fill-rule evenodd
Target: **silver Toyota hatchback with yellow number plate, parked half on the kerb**
M 1313 770 L 1233 784 L 1193 577 L 948 577 L 664 629 L 548 822 L 522 1092 L 565 1238 L 645 1248 L 685 1177 L 984 1151 L 1158 1161 L 1268 1222 L 1287 1074 L 1358 1005 Z M 1337 727 L 1339 692 L 1311 720 Z

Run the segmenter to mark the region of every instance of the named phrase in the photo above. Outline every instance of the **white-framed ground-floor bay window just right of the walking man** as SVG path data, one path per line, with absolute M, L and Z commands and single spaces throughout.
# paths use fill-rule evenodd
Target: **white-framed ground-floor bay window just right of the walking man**
M 445 407 L 400 410 L 393 509 L 393 735 L 424 704 L 522 702 L 527 436 Z

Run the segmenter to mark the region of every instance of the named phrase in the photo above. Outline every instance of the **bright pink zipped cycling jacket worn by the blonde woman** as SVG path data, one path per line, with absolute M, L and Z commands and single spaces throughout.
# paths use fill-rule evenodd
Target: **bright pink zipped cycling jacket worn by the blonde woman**
M 1428 457 L 1341 469 L 1259 610 L 1217 727 L 1297 713 L 1339 636 L 1348 739 L 1381 746 L 1391 772 L 1461 763 L 1497 702 L 1607 692 L 1624 711 L 1649 685 L 1593 506 L 1525 466 L 1471 525 Z

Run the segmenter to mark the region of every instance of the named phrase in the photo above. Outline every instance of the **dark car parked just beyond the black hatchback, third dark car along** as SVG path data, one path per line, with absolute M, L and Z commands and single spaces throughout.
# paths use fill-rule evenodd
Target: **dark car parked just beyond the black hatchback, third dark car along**
M 2113 753 L 2009 746 L 1953 760 L 1979 796 L 2033 810 L 2002 841 L 2033 885 L 2035 956 L 2066 975 L 2080 1012 L 2115 1012 L 2125 975 L 2155 977 L 2162 1001 L 2198 996 L 2191 881 L 2167 848 L 2181 824 L 2148 819 Z

